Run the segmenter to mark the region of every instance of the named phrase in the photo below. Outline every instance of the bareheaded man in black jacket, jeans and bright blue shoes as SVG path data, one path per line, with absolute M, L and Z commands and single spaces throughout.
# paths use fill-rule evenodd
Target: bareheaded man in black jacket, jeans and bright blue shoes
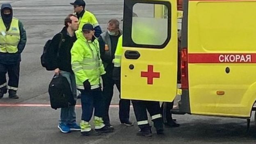
M 65 27 L 53 37 L 51 48 L 54 50 L 53 67 L 55 75 L 66 77 L 71 86 L 72 96 L 76 100 L 75 74 L 71 68 L 70 50 L 76 41 L 75 31 L 78 30 L 78 18 L 69 14 L 65 19 Z M 59 46 L 60 44 L 60 46 Z M 69 133 L 71 130 L 80 130 L 76 123 L 75 105 L 61 108 L 60 123 L 58 128 L 62 133 Z

